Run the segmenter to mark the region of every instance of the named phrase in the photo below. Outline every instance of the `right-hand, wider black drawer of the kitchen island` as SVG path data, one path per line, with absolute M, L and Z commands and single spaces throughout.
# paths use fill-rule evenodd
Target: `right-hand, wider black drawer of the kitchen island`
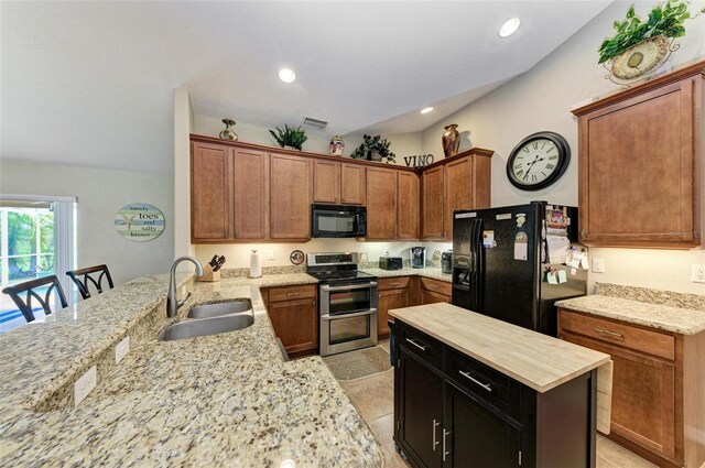
M 445 348 L 445 374 L 460 389 L 519 420 L 520 385 L 484 363 Z

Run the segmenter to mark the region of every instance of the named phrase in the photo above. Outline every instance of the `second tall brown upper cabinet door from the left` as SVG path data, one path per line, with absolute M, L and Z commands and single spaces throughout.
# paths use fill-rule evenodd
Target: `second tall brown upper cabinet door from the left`
M 269 209 L 269 155 L 235 150 L 234 217 L 236 239 L 265 239 Z

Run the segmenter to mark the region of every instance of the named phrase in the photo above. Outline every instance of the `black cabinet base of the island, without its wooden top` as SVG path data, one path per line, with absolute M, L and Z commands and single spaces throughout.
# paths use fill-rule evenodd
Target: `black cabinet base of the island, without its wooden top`
M 596 372 L 544 393 L 394 324 L 394 442 L 414 467 L 595 467 Z

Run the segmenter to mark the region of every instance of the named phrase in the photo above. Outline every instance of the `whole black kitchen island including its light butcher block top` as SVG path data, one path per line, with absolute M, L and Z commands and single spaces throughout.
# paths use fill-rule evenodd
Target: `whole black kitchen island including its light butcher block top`
M 394 440 L 415 466 L 595 466 L 608 355 L 451 304 L 390 315 Z

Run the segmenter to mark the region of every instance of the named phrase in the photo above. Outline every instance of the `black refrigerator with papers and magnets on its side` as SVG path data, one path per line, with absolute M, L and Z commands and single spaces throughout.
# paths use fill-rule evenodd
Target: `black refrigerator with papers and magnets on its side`
M 587 271 L 564 263 L 577 232 L 577 208 L 545 202 L 455 211 L 453 304 L 556 336 L 554 303 L 587 290 Z

